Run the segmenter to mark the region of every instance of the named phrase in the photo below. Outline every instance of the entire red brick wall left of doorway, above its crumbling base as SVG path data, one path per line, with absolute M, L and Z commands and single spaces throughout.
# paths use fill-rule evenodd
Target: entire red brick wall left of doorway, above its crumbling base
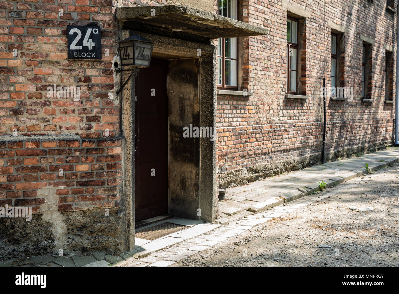
M 60 187 L 59 211 L 120 206 L 119 81 L 112 67 L 118 24 L 112 4 L 0 1 L 0 205 L 34 206 L 40 213 L 44 199 L 36 194 L 53 186 Z M 89 23 L 101 26 L 102 59 L 68 60 L 67 25 Z M 48 97 L 54 84 L 79 87 L 80 98 Z

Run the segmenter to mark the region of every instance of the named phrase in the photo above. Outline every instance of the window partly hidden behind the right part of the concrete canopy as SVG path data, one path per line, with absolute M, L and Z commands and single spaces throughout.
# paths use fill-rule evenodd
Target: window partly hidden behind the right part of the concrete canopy
M 237 19 L 237 0 L 219 0 L 219 15 Z M 217 42 L 217 86 L 237 89 L 237 38 L 219 38 Z

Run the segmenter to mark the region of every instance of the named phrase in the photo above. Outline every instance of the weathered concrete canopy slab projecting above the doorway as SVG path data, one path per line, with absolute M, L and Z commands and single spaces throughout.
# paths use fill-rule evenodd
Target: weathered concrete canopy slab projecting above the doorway
M 122 29 L 208 43 L 217 38 L 260 36 L 267 29 L 187 6 L 117 8 Z

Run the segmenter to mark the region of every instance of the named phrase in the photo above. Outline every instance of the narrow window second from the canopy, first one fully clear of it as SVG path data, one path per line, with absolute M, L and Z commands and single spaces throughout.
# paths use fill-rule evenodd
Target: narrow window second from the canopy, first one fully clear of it
M 287 17 L 287 93 L 296 94 L 298 89 L 298 20 Z

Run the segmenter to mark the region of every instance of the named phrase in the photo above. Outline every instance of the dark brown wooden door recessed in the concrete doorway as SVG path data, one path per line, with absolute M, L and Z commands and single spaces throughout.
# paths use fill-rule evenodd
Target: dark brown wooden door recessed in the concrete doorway
M 168 212 L 166 60 L 136 77 L 136 221 Z

